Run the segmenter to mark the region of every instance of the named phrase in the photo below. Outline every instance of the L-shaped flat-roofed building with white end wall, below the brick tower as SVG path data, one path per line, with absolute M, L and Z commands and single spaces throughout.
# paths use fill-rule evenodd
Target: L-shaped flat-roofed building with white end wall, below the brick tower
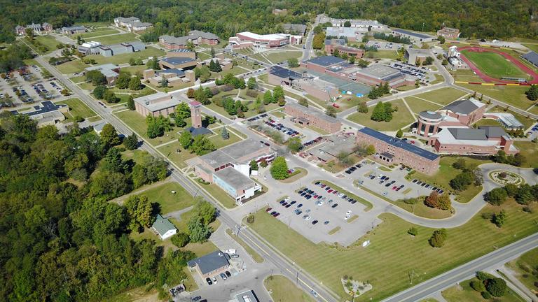
M 275 156 L 269 143 L 249 138 L 196 157 L 191 163 L 194 172 L 202 180 L 218 185 L 237 203 L 241 203 L 261 191 L 261 185 L 250 178 L 250 161 L 270 162 Z

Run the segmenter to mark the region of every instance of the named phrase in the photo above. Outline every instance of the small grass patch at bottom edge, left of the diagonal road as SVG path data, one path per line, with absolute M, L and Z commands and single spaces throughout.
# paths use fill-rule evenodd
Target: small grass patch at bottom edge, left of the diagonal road
M 270 292 L 273 301 L 314 302 L 303 290 L 299 289 L 283 275 L 270 275 L 263 280 L 263 286 Z

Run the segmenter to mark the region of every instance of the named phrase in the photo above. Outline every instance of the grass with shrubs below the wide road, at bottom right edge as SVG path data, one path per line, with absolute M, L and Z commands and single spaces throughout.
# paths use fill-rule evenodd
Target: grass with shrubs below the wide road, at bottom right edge
M 486 301 L 482 298 L 481 294 L 479 292 L 476 292 L 476 290 L 471 288 L 471 282 L 472 281 L 478 281 L 478 278 L 472 278 L 469 280 L 465 280 L 460 282 L 460 286 L 453 286 L 449 287 L 448 289 L 445 289 L 441 294 L 443 295 L 443 298 L 446 299 L 448 302 L 481 302 Z M 513 292 L 510 288 L 508 289 L 508 292 L 498 298 L 495 299 L 495 301 L 498 302 L 525 302 L 524 299 L 522 299 L 518 294 Z

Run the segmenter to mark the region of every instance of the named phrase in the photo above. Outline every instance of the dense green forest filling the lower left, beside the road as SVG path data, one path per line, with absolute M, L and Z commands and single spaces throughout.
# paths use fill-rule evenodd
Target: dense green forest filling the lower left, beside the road
M 153 204 L 109 202 L 167 175 L 162 159 L 145 153 L 135 163 L 119 144 L 109 124 L 100 136 L 76 125 L 60 136 L 26 115 L 3 118 L 0 301 L 106 301 L 185 278 L 192 252 L 166 253 L 153 240 L 127 236 L 151 225 Z

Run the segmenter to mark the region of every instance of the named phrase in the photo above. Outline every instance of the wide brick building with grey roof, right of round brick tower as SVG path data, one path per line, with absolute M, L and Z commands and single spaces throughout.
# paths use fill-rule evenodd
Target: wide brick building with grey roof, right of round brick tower
M 447 127 L 430 137 L 428 144 L 441 154 L 493 155 L 499 150 L 506 154 L 519 152 L 504 129 L 494 126 L 478 129 Z

